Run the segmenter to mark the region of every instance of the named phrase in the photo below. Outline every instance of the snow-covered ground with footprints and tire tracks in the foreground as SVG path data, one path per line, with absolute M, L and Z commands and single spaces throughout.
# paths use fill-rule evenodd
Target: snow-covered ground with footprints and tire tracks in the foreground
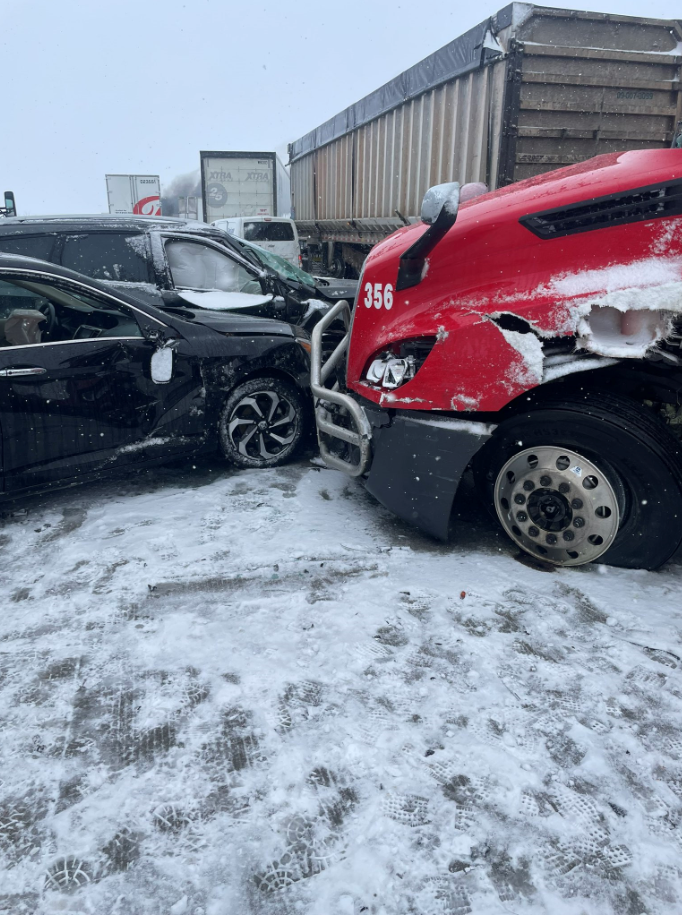
M 6 516 L 0 911 L 682 911 L 682 567 L 459 511 L 216 460 Z

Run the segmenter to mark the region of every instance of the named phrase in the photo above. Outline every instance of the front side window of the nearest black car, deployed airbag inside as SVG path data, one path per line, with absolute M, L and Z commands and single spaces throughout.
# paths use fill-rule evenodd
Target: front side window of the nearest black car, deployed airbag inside
M 134 312 L 50 283 L 0 280 L 0 348 L 141 337 Z

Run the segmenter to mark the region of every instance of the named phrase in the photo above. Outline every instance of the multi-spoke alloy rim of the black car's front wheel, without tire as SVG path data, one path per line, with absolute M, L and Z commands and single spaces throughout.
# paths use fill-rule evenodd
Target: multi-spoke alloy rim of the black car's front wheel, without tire
M 254 391 L 232 409 L 227 434 L 239 454 L 251 460 L 278 457 L 296 438 L 294 405 L 276 391 Z

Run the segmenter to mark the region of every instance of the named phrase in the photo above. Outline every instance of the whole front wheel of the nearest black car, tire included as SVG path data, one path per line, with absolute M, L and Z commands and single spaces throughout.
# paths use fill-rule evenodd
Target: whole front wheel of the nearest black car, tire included
M 305 432 L 303 400 L 280 378 L 252 378 L 227 398 L 219 420 L 225 457 L 239 467 L 277 467 L 296 453 Z

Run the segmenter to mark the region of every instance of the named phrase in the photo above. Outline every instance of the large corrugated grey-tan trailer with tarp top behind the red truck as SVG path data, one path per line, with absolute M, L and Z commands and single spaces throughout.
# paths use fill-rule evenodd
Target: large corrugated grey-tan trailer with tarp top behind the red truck
M 682 127 L 682 21 L 511 3 L 289 146 L 321 272 L 357 275 L 445 181 L 492 190 Z

